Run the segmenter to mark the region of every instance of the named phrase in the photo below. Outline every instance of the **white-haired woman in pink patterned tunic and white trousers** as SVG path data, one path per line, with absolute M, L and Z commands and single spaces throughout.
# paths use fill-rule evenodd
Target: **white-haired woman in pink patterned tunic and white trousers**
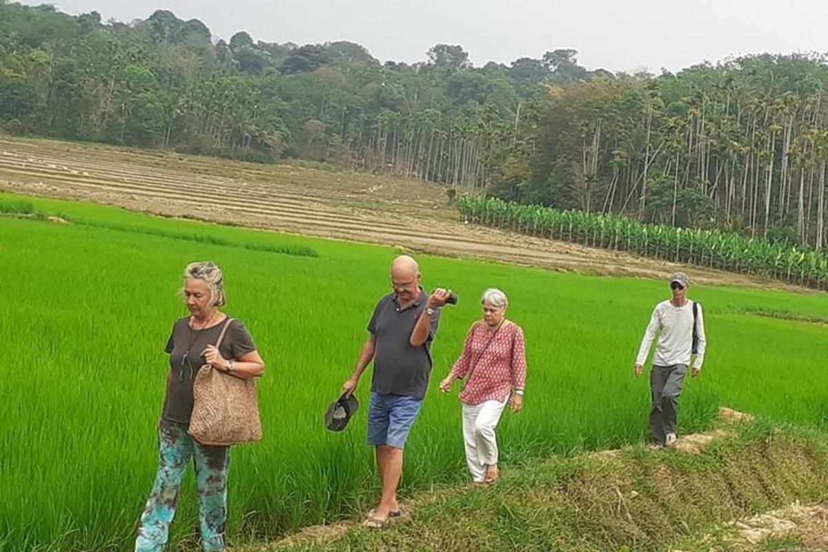
M 465 346 L 440 389 L 451 390 L 455 379 L 466 377 L 463 402 L 463 439 L 466 463 L 475 484 L 498 479 L 498 442 L 494 429 L 507 403 L 513 412 L 523 407 L 526 386 L 526 347 L 523 330 L 506 319 L 508 298 L 503 291 L 485 290 L 483 320 L 472 324 Z

